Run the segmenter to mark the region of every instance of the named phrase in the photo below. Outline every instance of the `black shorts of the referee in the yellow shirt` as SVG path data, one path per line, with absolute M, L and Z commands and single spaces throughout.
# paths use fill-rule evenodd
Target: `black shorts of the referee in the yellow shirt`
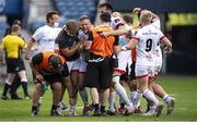
M 25 65 L 22 59 L 7 59 L 7 72 L 8 73 L 18 73 L 25 70 Z

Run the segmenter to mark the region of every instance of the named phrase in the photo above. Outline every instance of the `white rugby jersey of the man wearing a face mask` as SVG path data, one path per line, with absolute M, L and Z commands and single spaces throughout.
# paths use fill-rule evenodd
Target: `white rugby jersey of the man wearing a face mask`
M 32 36 L 38 44 L 38 52 L 54 51 L 55 39 L 60 30 L 60 27 L 50 27 L 48 25 L 39 27 Z

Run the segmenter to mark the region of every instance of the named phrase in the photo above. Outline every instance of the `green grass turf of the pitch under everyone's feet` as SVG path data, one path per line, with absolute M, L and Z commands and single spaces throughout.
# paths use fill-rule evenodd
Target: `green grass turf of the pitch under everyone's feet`
M 197 77 L 162 76 L 158 78 L 158 82 L 170 95 L 176 98 L 175 111 L 170 117 L 166 115 L 166 106 L 160 118 L 141 117 L 139 114 L 129 117 L 49 117 L 51 93 L 48 90 L 42 102 L 38 117 L 31 117 L 31 100 L 0 99 L 0 121 L 197 121 Z M 1 83 L 0 91 L 2 91 L 2 86 L 3 84 Z M 32 88 L 33 85 L 30 85 L 30 89 Z M 23 94 L 21 88 L 19 94 L 22 97 Z M 65 101 L 68 105 L 67 95 L 65 96 Z M 141 105 L 144 109 L 146 102 L 143 99 Z M 82 107 L 81 98 L 79 98 L 78 106 Z M 79 108 L 78 114 L 80 114 L 82 108 Z M 67 114 L 68 111 L 65 111 L 65 113 Z

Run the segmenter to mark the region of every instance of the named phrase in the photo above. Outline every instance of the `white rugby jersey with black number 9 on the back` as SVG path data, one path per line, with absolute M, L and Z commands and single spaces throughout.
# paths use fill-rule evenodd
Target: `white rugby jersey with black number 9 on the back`
M 136 63 L 140 65 L 153 65 L 155 50 L 163 37 L 163 33 L 152 24 L 140 28 L 134 36 L 134 38 L 138 39 Z

